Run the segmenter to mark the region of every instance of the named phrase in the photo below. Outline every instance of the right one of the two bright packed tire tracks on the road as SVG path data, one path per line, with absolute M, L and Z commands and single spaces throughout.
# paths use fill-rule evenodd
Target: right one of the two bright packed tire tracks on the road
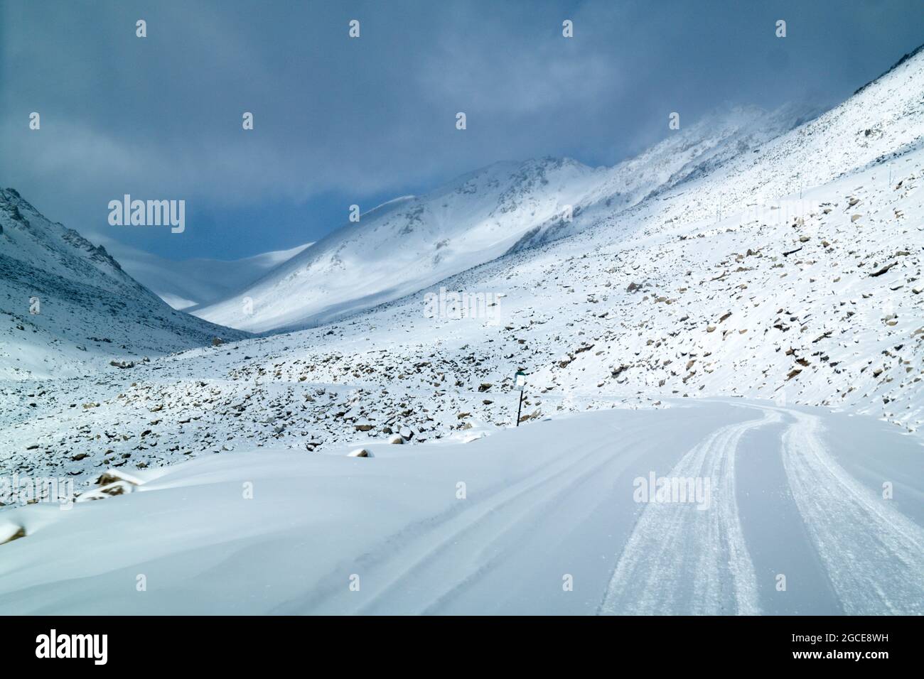
M 788 413 L 786 477 L 845 612 L 924 613 L 924 530 L 834 460 L 819 418 Z

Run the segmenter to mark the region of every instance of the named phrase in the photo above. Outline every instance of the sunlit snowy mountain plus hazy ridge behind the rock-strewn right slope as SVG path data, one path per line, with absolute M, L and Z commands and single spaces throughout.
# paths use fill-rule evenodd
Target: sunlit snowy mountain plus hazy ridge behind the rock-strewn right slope
M 369 309 L 507 251 L 577 233 L 795 127 L 794 106 L 712 115 L 631 161 L 597 168 L 571 159 L 498 163 L 432 193 L 392 200 L 279 265 L 201 318 L 249 331 L 297 328 Z M 253 299 L 245 313 L 242 297 Z

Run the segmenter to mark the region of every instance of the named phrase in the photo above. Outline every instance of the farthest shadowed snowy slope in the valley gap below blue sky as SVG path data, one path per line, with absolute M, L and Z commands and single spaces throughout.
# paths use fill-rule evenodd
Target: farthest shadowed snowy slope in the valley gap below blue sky
M 201 258 L 174 261 L 130 248 L 112 239 L 103 241 L 103 245 L 116 258 L 123 271 L 141 285 L 174 309 L 189 311 L 250 285 L 264 273 L 292 259 L 311 244 L 262 252 L 235 261 Z

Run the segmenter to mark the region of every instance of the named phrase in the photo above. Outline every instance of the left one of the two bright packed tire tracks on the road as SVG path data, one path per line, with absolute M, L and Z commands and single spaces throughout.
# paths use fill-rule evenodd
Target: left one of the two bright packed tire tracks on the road
M 763 418 L 713 431 L 680 459 L 667 476 L 710 479 L 709 508 L 701 510 L 695 503 L 647 504 L 598 612 L 760 613 L 757 576 L 738 516 L 735 456 L 748 430 L 781 419 L 779 413 L 765 410 Z

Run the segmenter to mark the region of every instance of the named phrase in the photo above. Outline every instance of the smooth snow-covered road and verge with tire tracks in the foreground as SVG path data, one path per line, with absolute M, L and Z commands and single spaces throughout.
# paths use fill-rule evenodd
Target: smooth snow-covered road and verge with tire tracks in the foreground
M 27 535 L 0 546 L 0 612 L 924 612 L 919 437 L 672 406 L 371 458 L 203 456 L 127 496 L 8 508 Z M 639 502 L 652 475 L 691 492 Z

